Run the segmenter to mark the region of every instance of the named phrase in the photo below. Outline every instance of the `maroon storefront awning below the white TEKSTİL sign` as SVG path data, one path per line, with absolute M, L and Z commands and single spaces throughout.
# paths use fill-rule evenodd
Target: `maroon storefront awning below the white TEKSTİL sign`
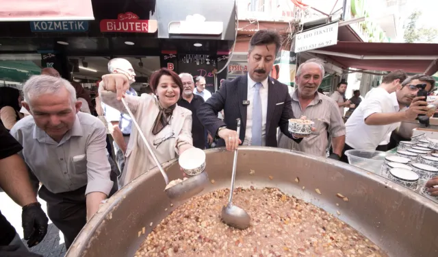
M 337 42 L 337 45 L 308 51 L 328 56 L 342 68 L 370 71 L 402 69 L 432 75 L 438 71 L 438 44 Z

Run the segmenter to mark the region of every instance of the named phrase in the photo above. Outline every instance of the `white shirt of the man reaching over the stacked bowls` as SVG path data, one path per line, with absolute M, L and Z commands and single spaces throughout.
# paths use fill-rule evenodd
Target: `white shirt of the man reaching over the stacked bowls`
M 366 125 L 365 119 L 374 113 L 399 112 L 396 93 L 389 94 L 383 88 L 374 88 L 351 114 L 346 122 L 345 143 L 354 149 L 375 150 L 379 143 L 395 130 L 400 123 Z

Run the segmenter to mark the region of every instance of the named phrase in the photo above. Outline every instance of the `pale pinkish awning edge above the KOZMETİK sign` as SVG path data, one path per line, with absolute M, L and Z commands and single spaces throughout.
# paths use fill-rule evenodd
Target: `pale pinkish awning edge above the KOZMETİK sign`
M 0 0 L 0 21 L 94 20 L 91 0 Z

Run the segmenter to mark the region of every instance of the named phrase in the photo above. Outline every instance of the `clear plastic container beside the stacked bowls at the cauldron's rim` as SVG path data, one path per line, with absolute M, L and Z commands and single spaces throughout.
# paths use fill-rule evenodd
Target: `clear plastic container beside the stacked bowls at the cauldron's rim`
M 379 174 L 385 157 L 392 156 L 385 151 L 347 150 L 345 155 L 352 166 Z

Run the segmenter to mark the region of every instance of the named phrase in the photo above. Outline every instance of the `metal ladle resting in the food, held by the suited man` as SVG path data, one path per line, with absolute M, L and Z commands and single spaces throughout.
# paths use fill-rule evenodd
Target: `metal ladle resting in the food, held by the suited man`
M 237 135 L 240 135 L 240 119 L 237 119 Z M 251 218 L 248 213 L 242 208 L 233 206 L 231 201 L 233 200 L 234 192 L 234 180 L 235 180 L 235 169 L 237 166 L 237 149 L 234 150 L 234 160 L 233 160 L 233 173 L 231 174 L 231 188 L 230 197 L 228 199 L 227 206 L 222 207 L 222 221 L 227 223 L 227 225 L 244 230 L 249 227 Z

